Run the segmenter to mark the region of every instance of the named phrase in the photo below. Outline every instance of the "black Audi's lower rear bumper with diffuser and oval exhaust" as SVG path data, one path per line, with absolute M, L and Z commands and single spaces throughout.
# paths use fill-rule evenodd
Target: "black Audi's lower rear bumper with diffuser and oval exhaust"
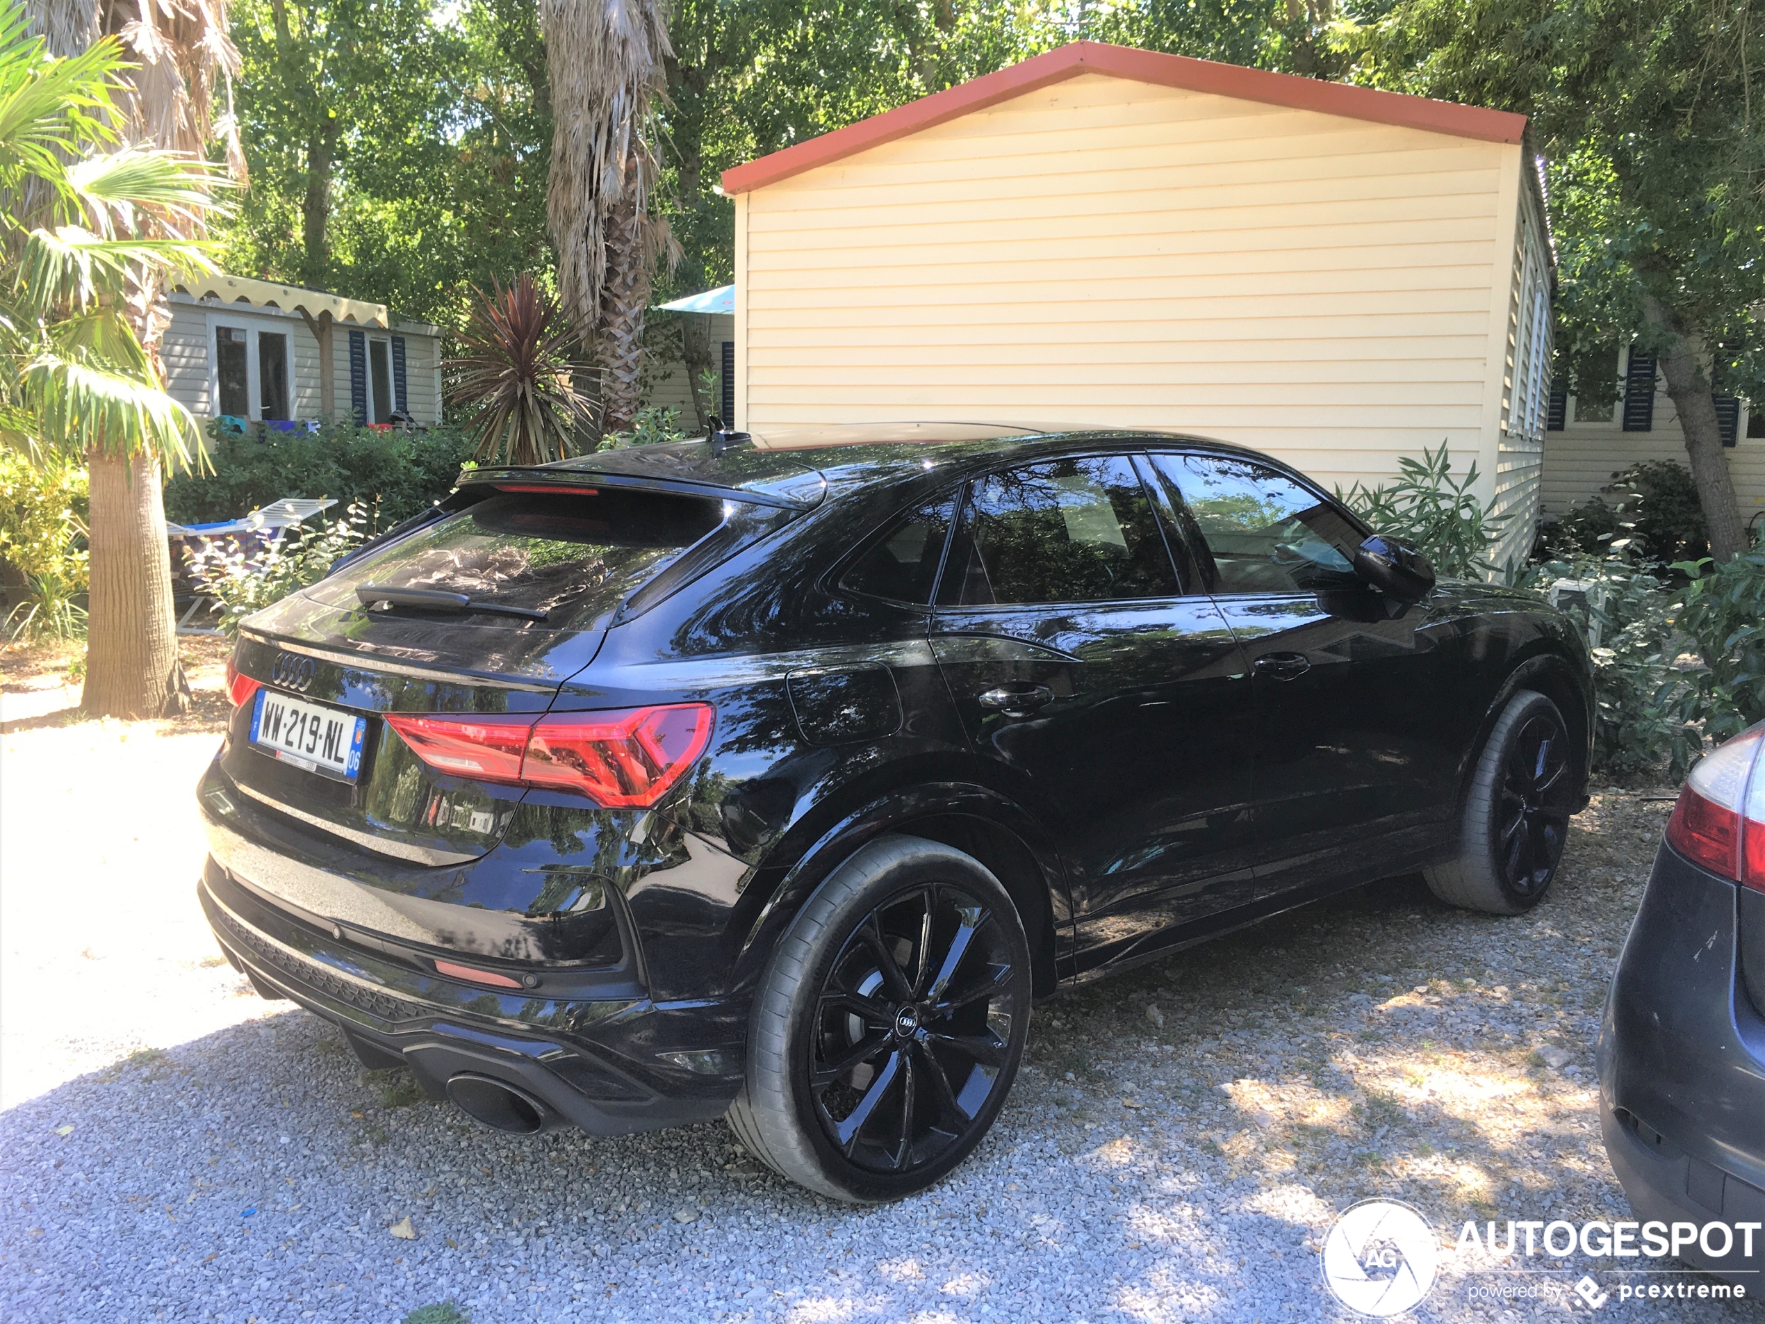
M 547 1125 L 625 1135 L 724 1114 L 741 1079 L 727 1043 L 734 1008 L 653 1003 L 637 989 L 561 999 L 459 983 L 288 914 L 214 860 L 198 884 L 228 957 L 270 996 L 344 1031 L 369 1066 L 409 1066 L 424 1093 L 482 1075 L 542 1102 Z M 694 1054 L 713 1070 L 669 1063 Z

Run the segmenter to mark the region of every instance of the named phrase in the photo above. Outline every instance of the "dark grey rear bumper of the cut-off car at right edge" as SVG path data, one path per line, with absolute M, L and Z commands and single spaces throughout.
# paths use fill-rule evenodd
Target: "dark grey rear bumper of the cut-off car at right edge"
M 1765 1292 L 1765 1019 L 1739 978 L 1739 888 L 1663 846 L 1599 1033 L 1606 1155 L 1641 1220 L 1754 1223 L 1682 1259 Z M 1712 1236 L 1716 1246 L 1721 1236 Z

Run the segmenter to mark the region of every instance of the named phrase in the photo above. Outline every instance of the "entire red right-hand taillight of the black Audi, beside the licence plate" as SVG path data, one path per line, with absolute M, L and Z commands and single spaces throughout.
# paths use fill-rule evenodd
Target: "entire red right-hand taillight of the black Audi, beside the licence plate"
M 711 741 L 711 704 L 549 717 L 387 713 L 417 757 L 452 777 L 577 791 L 607 809 L 660 800 Z

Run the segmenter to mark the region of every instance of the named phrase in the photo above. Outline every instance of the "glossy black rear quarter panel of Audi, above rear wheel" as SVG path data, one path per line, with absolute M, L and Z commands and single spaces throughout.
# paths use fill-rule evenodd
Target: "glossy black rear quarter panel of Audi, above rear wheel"
M 552 710 L 702 701 L 717 708 L 690 784 L 657 814 L 690 869 L 628 879 L 658 999 L 722 996 L 762 964 L 762 916 L 791 867 L 902 786 L 965 780 L 967 745 L 925 613 L 831 593 L 828 568 L 893 505 L 817 512 L 609 630 Z

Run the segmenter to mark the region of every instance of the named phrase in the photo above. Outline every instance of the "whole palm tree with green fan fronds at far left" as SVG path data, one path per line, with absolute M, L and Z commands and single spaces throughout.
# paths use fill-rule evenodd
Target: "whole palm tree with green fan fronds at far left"
M 166 79 L 176 67 L 166 53 L 192 37 L 189 12 L 173 5 L 168 19 L 159 7 L 159 28 L 129 28 L 155 53 L 146 64 L 129 62 L 122 39 L 95 35 L 97 11 L 90 23 L 85 12 L 35 16 L 71 48 L 56 56 L 30 35 L 19 0 L 0 0 L 0 353 L 12 369 L 0 381 L 0 434 L 85 457 L 83 706 L 159 717 L 187 699 L 161 466 L 201 455 L 196 420 L 161 385 L 159 293 L 164 279 L 210 267 L 199 235 L 219 180 L 199 157 L 131 138 L 145 129 L 184 143 L 207 115 L 205 99 Z M 104 21 L 127 26 L 115 9 Z

